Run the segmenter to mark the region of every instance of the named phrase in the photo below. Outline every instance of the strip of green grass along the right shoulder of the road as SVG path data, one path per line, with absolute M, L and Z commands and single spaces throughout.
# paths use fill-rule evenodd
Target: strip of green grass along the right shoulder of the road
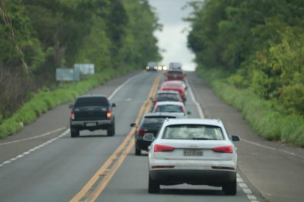
M 200 68 L 197 72 L 217 96 L 242 112 L 259 136 L 304 148 L 304 116 L 291 114 L 278 103 L 261 99 L 250 88 L 235 88 L 226 82 L 229 74 L 221 70 Z

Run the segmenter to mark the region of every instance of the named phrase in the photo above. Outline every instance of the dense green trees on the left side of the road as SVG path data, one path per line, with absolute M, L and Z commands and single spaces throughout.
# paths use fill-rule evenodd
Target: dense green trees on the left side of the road
M 147 0 L 0 0 L 0 14 L 0 124 L 29 92 L 56 88 L 56 68 L 124 71 L 161 59 Z

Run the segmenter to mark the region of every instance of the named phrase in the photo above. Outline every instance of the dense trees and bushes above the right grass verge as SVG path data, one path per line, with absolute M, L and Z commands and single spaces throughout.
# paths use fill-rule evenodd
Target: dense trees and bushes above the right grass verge
M 238 88 L 304 113 L 304 2 L 206 0 L 191 3 L 188 45 L 199 64 L 234 73 Z

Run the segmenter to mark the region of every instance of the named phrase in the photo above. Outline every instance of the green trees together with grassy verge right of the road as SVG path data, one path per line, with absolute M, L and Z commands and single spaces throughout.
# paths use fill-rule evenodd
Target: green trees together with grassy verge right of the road
M 197 71 L 268 140 L 304 147 L 304 2 L 206 0 L 188 46 Z

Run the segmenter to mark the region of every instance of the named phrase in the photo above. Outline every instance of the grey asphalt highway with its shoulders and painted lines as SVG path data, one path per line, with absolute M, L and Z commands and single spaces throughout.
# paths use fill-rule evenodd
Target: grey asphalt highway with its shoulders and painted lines
M 267 142 L 208 85 L 187 73 L 190 117 L 221 118 L 240 135 L 238 192 L 225 196 L 209 186 L 162 186 L 148 194 L 146 153 L 134 155 L 130 123 L 148 110 L 161 73 L 137 71 L 92 90 L 117 103 L 116 135 L 83 131 L 70 138 L 68 104 L 43 114 L 20 133 L 0 140 L 0 201 L 304 201 L 304 151 Z M 200 110 L 201 108 L 201 110 Z

